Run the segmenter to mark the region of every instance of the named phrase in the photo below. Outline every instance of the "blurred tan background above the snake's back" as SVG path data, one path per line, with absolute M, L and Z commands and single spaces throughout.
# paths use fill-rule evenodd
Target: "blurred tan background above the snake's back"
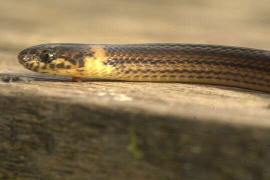
M 270 49 L 269 0 L 2 0 L 0 50 L 54 42 Z

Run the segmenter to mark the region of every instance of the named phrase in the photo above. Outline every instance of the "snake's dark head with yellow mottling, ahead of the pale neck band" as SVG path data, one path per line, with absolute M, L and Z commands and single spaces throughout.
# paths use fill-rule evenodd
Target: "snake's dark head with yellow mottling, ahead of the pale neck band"
M 22 50 L 18 59 L 27 69 L 35 72 L 69 75 L 70 70 L 84 66 L 85 56 L 92 53 L 89 48 L 87 44 L 41 44 Z

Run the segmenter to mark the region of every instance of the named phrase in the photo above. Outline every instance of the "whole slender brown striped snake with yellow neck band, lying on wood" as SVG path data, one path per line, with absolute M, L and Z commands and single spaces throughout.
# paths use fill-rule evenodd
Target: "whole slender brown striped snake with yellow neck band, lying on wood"
M 44 74 L 124 81 L 190 82 L 270 92 L 270 51 L 192 43 L 48 43 L 19 62 Z

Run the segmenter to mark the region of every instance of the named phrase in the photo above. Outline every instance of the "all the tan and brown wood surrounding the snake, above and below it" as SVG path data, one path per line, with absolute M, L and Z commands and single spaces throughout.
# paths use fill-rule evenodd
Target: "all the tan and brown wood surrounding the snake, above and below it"
M 58 41 L 224 42 L 267 49 L 269 8 L 260 6 L 266 11 L 253 21 L 264 27 L 253 33 L 238 22 L 252 21 L 251 0 L 233 1 L 232 15 L 222 11 L 232 2 L 81 2 L 62 8 L 63 1 L 10 0 L 0 7 L 0 179 L 270 178 L 270 94 L 188 83 L 78 83 L 30 72 L 17 61 L 26 46 Z M 237 29 L 222 20 L 215 21 L 220 27 L 209 25 L 212 14 L 200 15 L 210 9 Z M 195 14 L 190 18 L 200 30 L 190 32 L 196 26 L 184 10 Z M 21 80 L 6 82 L 6 75 Z

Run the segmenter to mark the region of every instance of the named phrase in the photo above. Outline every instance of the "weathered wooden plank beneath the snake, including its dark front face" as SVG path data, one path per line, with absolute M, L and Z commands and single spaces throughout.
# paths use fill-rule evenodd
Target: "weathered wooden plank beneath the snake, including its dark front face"
M 268 174 L 267 93 L 184 83 L 78 83 L 29 72 L 13 54 L 1 56 L 2 78 L 23 77 L 0 82 L 3 177 L 263 179 Z

